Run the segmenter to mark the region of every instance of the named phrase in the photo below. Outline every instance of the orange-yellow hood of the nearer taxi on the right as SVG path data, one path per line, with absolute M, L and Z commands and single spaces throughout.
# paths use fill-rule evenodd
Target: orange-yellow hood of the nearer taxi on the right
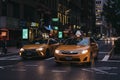
M 57 50 L 84 50 L 88 48 L 90 48 L 90 46 L 61 45 L 57 48 Z

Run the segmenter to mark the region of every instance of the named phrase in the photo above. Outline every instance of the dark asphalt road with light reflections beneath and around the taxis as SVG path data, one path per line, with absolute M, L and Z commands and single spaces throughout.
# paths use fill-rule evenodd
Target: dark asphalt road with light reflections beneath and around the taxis
M 19 56 L 0 58 L 2 80 L 120 80 L 120 61 L 103 60 L 112 45 L 98 42 L 99 59 L 91 66 L 57 65 L 54 57 L 47 59 L 22 60 Z

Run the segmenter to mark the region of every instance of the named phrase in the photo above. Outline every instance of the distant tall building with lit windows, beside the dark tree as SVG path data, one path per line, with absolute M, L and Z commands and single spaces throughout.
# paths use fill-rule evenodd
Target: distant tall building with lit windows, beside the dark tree
M 101 37 L 107 35 L 107 25 L 103 12 L 103 5 L 106 0 L 96 0 L 96 31 Z

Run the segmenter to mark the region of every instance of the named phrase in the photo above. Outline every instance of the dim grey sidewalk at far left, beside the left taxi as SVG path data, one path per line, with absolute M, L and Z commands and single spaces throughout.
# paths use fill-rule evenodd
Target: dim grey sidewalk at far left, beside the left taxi
M 7 50 L 8 50 L 7 54 L 2 54 L 1 48 L 0 48 L 0 57 L 10 56 L 10 55 L 18 55 L 18 52 L 19 52 L 19 49 L 17 49 L 16 47 L 8 47 Z

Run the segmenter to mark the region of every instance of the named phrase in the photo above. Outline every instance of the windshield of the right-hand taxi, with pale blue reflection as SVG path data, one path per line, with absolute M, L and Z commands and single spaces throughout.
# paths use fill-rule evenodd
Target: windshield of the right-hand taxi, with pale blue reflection
M 68 39 L 68 40 L 65 41 L 64 44 L 65 44 L 65 45 L 83 45 L 83 46 L 86 46 L 86 45 L 89 45 L 89 38 L 83 38 L 83 39 L 77 39 L 77 38 Z

